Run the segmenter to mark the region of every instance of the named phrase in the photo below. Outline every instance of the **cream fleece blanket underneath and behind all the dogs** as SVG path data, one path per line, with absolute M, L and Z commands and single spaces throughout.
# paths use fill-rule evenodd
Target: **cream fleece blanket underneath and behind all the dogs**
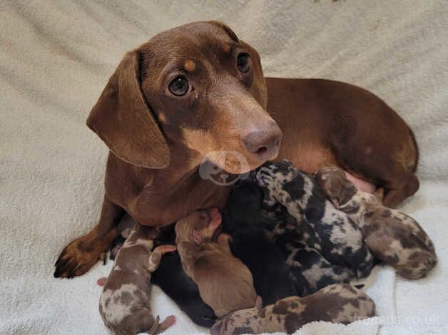
M 125 51 L 206 19 L 255 46 L 267 76 L 373 91 L 419 143 L 422 185 L 401 210 L 434 240 L 437 268 L 410 282 L 377 267 L 377 317 L 296 334 L 448 334 L 448 3 L 435 0 L 0 1 L 0 334 L 108 334 L 96 279 L 111 264 L 53 278 L 100 211 L 108 150 L 86 116 Z M 157 287 L 153 309 L 177 316 L 166 334 L 206 332 Z

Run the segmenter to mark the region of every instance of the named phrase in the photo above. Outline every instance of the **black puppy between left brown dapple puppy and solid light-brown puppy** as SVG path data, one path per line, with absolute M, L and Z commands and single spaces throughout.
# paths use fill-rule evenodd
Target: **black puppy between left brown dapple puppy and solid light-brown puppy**
M 158 244 L 175 244 L 174 225 L 161 230 L 155 240 Z M 200 326 L 210 328 L 216 320 L 213 309 L 200 298 L 198 286 L 183 271 L 178 253 L 166 254 L 156 272 L 151 276 L 151 282 L 158 285 L 168 297 Z

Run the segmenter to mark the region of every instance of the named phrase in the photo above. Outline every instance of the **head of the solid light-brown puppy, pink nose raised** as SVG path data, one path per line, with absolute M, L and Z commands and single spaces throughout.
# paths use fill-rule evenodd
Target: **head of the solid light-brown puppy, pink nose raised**
M 196 210 L 175 225 L 178 239 L 188 239 L 195 244 L 210 242 L 222 222 L 218 208 Z

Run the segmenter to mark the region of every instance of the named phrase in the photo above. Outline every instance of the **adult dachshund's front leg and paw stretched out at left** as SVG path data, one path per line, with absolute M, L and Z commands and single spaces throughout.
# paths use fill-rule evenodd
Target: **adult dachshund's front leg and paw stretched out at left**
M 55 264 L 54 277 L 73 278 L 88 272 L 117 237 L 116 226 L 123 214 L 124 210 L 105 195 L 98 224 L 62 250 Z

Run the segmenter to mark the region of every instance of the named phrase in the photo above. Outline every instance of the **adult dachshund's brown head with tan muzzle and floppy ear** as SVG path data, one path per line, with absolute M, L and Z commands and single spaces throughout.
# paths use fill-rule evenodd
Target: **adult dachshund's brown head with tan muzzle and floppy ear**
M 196 22 L 127 53 L 87 124 L 133 165 L 166 168 L 188 152 L 187 164 L 208 158 L 241 173 L 278 155 L 282 132 L 266 104 L 257 51 L 224 24 Z

